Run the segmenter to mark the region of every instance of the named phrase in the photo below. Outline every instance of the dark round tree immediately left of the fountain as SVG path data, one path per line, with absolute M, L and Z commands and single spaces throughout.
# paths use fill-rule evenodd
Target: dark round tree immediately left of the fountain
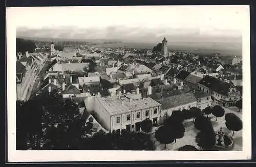
M 204 150 L 212 150 L 216 144 L 216 134 L 213 129 L 208 131 L 200 131 L 196 135 L 196 143 Z

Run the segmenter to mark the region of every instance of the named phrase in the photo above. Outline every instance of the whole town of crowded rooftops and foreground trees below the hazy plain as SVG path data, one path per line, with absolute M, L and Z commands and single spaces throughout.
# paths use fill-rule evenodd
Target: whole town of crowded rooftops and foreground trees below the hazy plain
M 17 150 L 242 151 L 241 55 L 16 41 Z

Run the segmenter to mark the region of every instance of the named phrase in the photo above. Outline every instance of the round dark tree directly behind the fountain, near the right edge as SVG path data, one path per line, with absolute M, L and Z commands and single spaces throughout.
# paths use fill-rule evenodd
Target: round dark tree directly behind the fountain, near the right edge
M 226 127 L 229 130 L 233 131 L 232 135 L 234 135 L 234 131 L 239 131 L 243 128 L 242 120 L 235 114 L 227 113 L 225 115 L 225 120 L 226 120 L 226 123 L 225 123 Z

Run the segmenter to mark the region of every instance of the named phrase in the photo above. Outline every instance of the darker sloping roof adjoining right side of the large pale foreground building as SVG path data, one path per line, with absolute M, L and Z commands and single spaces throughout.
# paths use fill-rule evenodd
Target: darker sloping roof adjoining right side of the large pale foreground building
M 193 93 L 189 92 L 185 94 L 161 98 L 156 101 L 162 104 L 162 109 L 168 109 L 168 108 L 173 108 L 173 107 L 181 106 L 184 104 L 188 104 L 191 102 L 196 102 L 197 99 Z

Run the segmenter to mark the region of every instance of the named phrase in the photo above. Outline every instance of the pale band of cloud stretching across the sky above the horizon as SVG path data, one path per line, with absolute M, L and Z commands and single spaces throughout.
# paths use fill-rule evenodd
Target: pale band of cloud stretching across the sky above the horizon
M 29 29 L 19 27 L 17 36 L 46 37 L 67 39 L 118 39 L 137 42 L 156 42 L 166 37 L 168 41 L 195 41 L 205 37 L 240 37 L 241 33 L 235 30 L 204 29 L 198 28 L 174 28 L 160 27 L 147 28 L 136 26 L 115 25 L 107 27 L 78 28 L 75 26 L 44 27 L 42 29 Z

